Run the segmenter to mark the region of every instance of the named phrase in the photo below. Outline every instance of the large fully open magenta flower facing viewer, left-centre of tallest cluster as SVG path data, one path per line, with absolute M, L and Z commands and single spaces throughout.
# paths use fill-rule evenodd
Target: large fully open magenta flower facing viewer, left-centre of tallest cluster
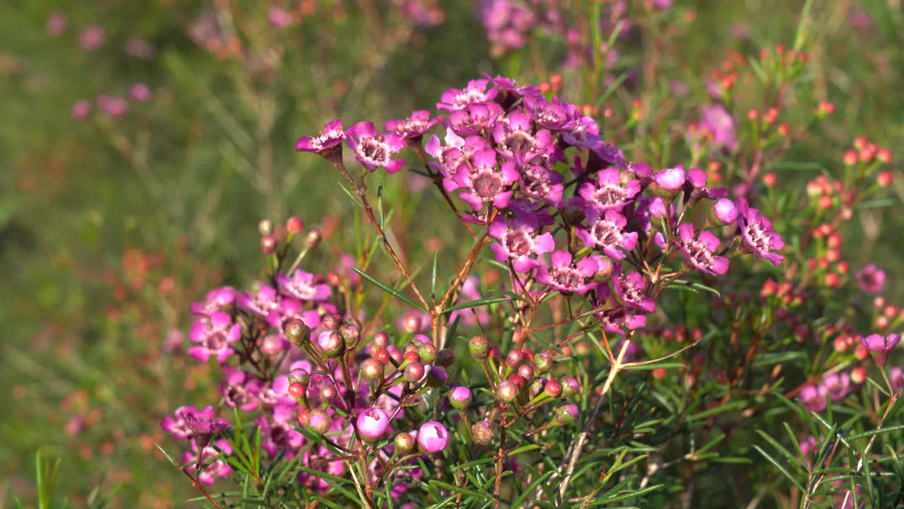
M 512 184 L 518 180 L 514 161 L 506 160 L 497 170 L 493 150 L 478 150 L 473 159 L 473 165 L 463 164 L 456 170 L 453 180 L 457 187 L 464 188 L 458 197 L 475 210 L 483 209 L 485 204 L 504 208 L 512 198 Z

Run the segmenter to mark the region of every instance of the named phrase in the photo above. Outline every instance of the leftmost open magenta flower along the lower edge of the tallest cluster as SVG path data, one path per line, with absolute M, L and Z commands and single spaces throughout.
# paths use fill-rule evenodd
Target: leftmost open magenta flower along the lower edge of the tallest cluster
M 496 217 L 489 227 L 489 234 L 499 242 L 490 245 L 496 255 L 496 261 L 504 263 L 512 260 L 514 270 L 526 273 L 538 265 L 536 255 L 550 253 L 555 249 L 552 234 L 546 232 L 533 235 L 535 226 L 520 219 L 506 220 Z

